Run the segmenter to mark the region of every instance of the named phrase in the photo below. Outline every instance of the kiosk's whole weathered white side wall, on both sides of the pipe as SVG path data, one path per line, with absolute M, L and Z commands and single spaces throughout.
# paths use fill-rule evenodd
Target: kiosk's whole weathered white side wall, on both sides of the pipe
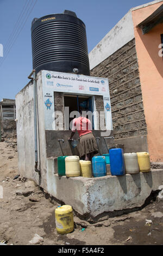
M 46 189 L 46 139 L 41 72 L 37 75 L 37 101 L 39 114 L 39 118 L 37 116 L 37 153 L 41 179 L 35 172 L 34 86 L 32 83 L 16 95 L 18 173 L 33 179 Z

